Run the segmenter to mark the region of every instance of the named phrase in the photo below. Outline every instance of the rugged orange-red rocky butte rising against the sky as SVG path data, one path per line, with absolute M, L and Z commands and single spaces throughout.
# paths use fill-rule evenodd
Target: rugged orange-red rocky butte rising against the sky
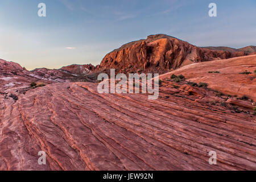
M 101 62 L 101 68 L 125 69 L 129 72 L 146 69 L 162 73 L 192 63 L 247 54 L 245 51 L 230 49 L 223 51 L 199 48 L 172 36 L 150 35 L 146 40 L 125 44 L 108 53 Z

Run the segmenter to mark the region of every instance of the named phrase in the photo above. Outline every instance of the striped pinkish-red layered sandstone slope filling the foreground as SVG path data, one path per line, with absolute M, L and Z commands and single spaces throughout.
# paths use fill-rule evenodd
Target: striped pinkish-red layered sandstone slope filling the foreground
M 162 85 L 155 101 L 98 94 L 88 82 L 36 88 L 16 102 L 0 94 L 0 169 L 256 169 L 252 110 L 212 105 L 225 100 L 202 88 Z M 40 166 L 42 150 L 47 163 Z M 209 165 L 209 151 L 217 165 Z

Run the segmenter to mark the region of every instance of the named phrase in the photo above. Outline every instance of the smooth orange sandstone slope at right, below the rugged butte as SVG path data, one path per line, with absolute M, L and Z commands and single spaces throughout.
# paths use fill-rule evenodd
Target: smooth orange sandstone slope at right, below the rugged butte
M 256 70 L 256 55 L 251 55 L 187 65 L 161 75 L 160 78 L 170 77 L 172 74 L 182 74 L 190 81 L 206 82 L 209 88 L 225 94 L 237 95 L 238 97 L 246 95 L 256 101 L 256 74 L 254 70 Z M 220 73 L 208 73 L 216 71 Z M 245 71 L 251 72 L 251 74 L 240 74 Z

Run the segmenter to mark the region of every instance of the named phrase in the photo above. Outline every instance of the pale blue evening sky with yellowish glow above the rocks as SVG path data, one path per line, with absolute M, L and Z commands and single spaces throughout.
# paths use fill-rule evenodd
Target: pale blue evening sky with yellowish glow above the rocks
M 46 17 L 38 4 L 46 4 Z M 217 16 L 210 17 L 209 3 Z M 195 46 L 256 46 L 255 0 L 0 0 L 0 59 L 27 69 L 100 64 L 123 44 L 167 34 Z

